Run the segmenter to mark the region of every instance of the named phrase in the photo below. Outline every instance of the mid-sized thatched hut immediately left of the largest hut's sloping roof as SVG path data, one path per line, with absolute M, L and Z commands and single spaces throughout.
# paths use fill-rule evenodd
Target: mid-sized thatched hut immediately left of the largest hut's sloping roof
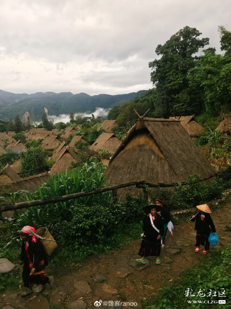
M 91 145 L 90 150 L 98 152 L 105 149 L 114 155 L 115 151 L 120 147 L 120 140 L 113 133 L 102 133 L 97 140 Z

